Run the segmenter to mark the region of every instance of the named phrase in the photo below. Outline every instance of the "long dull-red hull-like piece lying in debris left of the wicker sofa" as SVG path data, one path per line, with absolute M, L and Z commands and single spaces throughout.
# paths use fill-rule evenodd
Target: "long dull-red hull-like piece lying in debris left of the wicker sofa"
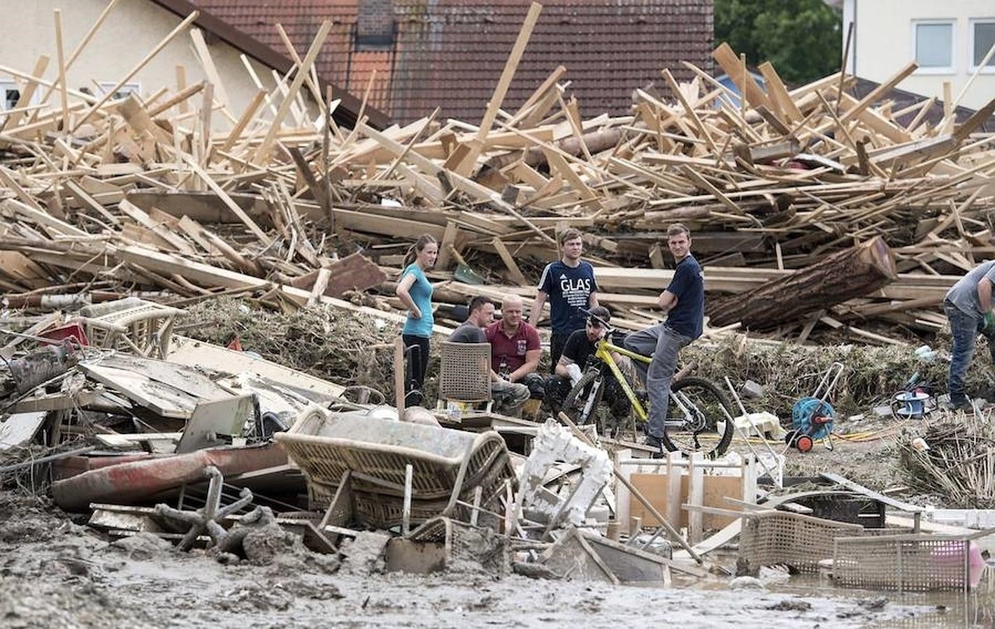
M 212 448 L 189 454 L 130 461 L 90 470 L 52 484 L 52 497 L 64 511 L 80 513 L 91 503 L 131 505 L 187 483 L 204 481 L 213 465 L 225 476 L 287 465 L 276 443 L 254 448 Z

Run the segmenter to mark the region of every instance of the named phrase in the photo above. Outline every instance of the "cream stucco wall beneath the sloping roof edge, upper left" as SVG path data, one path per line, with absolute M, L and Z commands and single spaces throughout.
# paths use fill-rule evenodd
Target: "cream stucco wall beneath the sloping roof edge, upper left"
M 45 54 L 51 60 L 43 77 L 54 81 L 59 74 L 54 10 L 62 10 L 64 50 L 68 60 L 106 4 L 106 0 L 0 0 L 5 26 L 4 36 L 0 38 L 0 65 L 30 73 L 39 56 Z M 149 0 L 120 0 L 70 68 L 68 87 L 75 90 L 88 87 L 96 93 L 94 82 L 116 84 L 181 21 L 182 18 Z M 239 59 L 240 51 L 217 38 L 212 42 L 206 32 L 205 36 L 230 101 L 227 108 L 238 118 L 257 88 Z M 251 61 L 264 87 L 272 90 L 275 82 L 271 69 Z M 177 65 L 185 68 L 187 85 L 207 79 L 194 54 L 189 30 L 177 35 L 130 81 L 139 84 L 142 96 L 163 87 L 173 93 L 176 91 Z M 0 76 L 0 80 L 9 79 Z M 39 91 L 40 95 L 44 92 Z M 217 92 L 215 100 L 220 101 Z M 74 102 L 71 97 L 70 103 Z M 58 92 L 52 95 L 49 103 L 59 106 Z M 200 95 L 189 101 L 191 108 L 200 103 Z M 276 100 L 276 105 L 280 105 L 280 100 Z M 311 117 L 314 115 L 312 109 Z M 214 112 L 212 126 L 215 130 L 227 130 L 231 125 L 221 111 Z

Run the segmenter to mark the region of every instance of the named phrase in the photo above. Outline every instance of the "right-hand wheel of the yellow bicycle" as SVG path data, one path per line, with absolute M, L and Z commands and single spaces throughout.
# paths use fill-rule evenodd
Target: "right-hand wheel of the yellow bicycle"
M 704 378 L 681 378 L 671 387 L 664 445 L 671 452 L 721 456 L 732 441 L 731 406 L 722 391 Z M 728 416 L 732 416 L 729 412 Z

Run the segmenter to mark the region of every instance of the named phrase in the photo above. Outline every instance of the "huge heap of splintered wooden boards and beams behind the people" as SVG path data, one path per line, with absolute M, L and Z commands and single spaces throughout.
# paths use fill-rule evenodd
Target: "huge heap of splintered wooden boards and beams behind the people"
M 502 108 L 538 15 L 533 5 L 479 124 L 437 120 L 438 111 L 382 129 L 362 111 L 353 129 L 335 124 L 338 102 L 316 103 L 323 95 L 310 76 L 327 24 L 307 51 L 290 51 L 296 65 L 278 88 L 242 112 L 228 111 L 209 59 L 214 83 L 123 99 L 43 80 L 45 57 L 31 73 L 0 68 L 23 95 L 0 132 L 0 290 L 11 303 L 82 286 L 182 303 L 255 293 L 282 308 L 370 312 L 338 298 L 379 290 L 387 299 L 377 305 L 400 320 L 385 280 L 419 234 L 440 242 L 442 302 L 514 293 L 527 305 L 535 271 L 557 256 L 557 232 L 576 227 L 601 302 L 637 328 L 658 320 L 655 296 L 673 266 L 666 232 L 681 222 L 716 324 L 801 340 L 814 326 L 849 326 L 861 340 L 892 342 L 861 326 L 875 318 L 935 331 L 946 289 L 995 251 L 995 150 L 979 131 L 995 101 L 960 124 L 932 124 L 924 112 L 933 101 L 896 111 L 888 100 L 914 65 L 859 99 L 851 76 L 790 90 L 770 64 L 761 86 L 723 44 L 713 56 L 743 87 L 741 104 L 684 64 L 661 74 L 670 96 L 636 89 L 627 115 L 583 117 L 562 67 L 522 105 Z M 203 47 L 199 31 L 182 34 L 190 22 L 169 37 Z M 65 63 L 62 50 L 53 55 Z M 27 105 L 38 87 L 48 100 Z M 863 260 L 842 252 L 871 242 L 888 260 L 884 273 L 828 277 L 871 274 L 866 262 L 823 263 Z M 366 260 L 336 263 L 337 252 L 357 250 Z M 456 280 L 468 264 L 489 286 Z M 806 278 L 847 290 L 834 299 Z M 764 312 L 810 294 L 811 308 Z

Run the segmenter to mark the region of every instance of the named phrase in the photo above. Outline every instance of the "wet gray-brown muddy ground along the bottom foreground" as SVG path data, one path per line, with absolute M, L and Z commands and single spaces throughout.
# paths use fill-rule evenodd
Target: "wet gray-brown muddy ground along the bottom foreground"
M 873 593 L 734 591 L 727 577 L 663 589 L 498 578 L 466 565 L 431 576 L 370 573 L 279 532 L 260 545 L 223 564 L 146 533 L 111 541 L 44 500 L 0 494 L 0 626 L 859 627 L 936 613 Z

